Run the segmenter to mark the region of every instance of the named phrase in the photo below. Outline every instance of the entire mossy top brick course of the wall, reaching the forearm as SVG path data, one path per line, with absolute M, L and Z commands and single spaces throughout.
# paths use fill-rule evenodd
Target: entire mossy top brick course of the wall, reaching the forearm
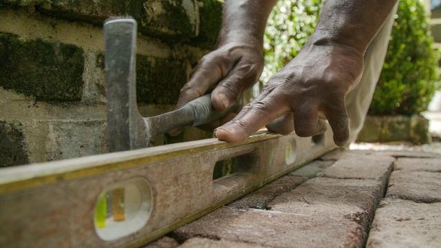
M 41 14 L 100 26 L 109 17 L 132 16 L 142 34 L 166 42 L 193 39 L 214 44 L 222 17 L 222 3 L 216 0 L 0 0 L 0 4 L 15 8 L 35 6 Z

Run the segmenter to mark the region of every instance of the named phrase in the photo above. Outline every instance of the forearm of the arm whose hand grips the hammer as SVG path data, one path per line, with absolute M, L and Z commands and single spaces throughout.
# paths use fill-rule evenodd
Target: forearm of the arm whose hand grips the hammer
M 267 19 L 276 0 L 225 0 L 218 45 L 252 42 L 262 46 Z

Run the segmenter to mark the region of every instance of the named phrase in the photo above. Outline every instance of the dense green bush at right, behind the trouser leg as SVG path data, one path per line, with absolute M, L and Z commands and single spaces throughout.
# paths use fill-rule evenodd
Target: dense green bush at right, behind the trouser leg
M 400 0 L 370 114 L 419 114 L 438 90 L 439 52 L 418 0 Z

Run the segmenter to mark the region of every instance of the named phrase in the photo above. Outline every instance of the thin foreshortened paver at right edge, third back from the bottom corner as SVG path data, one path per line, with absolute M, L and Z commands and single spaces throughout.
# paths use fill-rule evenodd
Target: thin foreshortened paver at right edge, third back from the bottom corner
M 395 170 L 441 172 L 441 158 L 398 158 Z

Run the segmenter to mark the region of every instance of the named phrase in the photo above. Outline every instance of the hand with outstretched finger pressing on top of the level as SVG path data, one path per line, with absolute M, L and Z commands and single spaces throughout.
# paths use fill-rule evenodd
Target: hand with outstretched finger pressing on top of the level
M 345 96 L 360 80 L 363 54 L 350 45 L 314 42 L 313 37 L 310 41 L 269 79 L 252 103 L 215 130 L 217 138 L 241 141 L 268 123 L 272 132 L 288 134 L 295 130 L 298 136 L 314 136 L 327 129 L 327 123 L 318 118 L 322 112 L 334 132 L 334 143 L 347 143 Z

